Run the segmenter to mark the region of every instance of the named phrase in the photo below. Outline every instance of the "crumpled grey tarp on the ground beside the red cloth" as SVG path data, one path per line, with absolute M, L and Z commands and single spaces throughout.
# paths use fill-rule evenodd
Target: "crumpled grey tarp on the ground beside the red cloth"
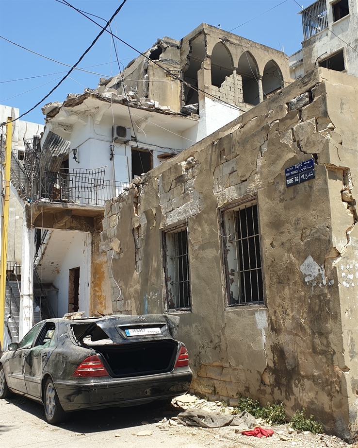
M 201 409 L 193 409 L 178 414 L 178 421 L 186 426 L 202 428 L 220 428 L 222 426 L 239 426 L 242 431 L 255 428 L 256 419 L 247 411 L 238 415 L 214 414 Z

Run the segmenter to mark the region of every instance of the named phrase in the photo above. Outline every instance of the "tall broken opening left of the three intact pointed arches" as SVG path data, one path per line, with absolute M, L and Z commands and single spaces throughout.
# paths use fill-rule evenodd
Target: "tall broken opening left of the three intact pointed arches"
M 201 69 L 206 55 L 204 34 L 199 34 L 190 42 L 192 52 L 189 55 L 189 67 L 183 73 L 185 82 L 197 87 L 197 71 Z M 184 85 L 184 105 L 199 103 L 197 90 Z

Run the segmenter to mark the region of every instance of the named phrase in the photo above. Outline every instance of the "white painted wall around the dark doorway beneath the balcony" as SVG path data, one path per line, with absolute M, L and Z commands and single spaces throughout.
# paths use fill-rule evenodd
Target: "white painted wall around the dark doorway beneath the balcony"
M 68 271 L 80 268 L 80 310 L 89 314 L 91 235 L 76 230 L 53 230 L 37 267 L 42 283 L 58 289 L 58 316 L 68 312 Z

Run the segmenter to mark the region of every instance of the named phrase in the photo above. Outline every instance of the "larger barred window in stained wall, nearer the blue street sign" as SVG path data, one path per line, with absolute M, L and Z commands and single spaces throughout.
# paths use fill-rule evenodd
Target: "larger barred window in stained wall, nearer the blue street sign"
M 263 302 L 257 204 L 251 200 L 223 212 L 224 265 L 229 307 Z

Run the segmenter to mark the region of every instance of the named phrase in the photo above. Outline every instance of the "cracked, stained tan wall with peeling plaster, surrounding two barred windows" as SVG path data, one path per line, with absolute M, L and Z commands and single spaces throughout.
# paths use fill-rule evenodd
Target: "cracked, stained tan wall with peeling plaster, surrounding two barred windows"
M 101 235 L 114 312 L 161 313 L 163 231 L 186 225 L 192 311 L 178 313 L 178 337 L 192 390 L 282 401 L 288 416 L 306 407 L 346 438 L 357 419 L 357 87 L 314 70 L 142 176 L 107 204 Z M 285 168 L 311 157 L 315 179 L 287 188 Z M 250 197 L 265 300 L 229 308 L 221 210 Z

